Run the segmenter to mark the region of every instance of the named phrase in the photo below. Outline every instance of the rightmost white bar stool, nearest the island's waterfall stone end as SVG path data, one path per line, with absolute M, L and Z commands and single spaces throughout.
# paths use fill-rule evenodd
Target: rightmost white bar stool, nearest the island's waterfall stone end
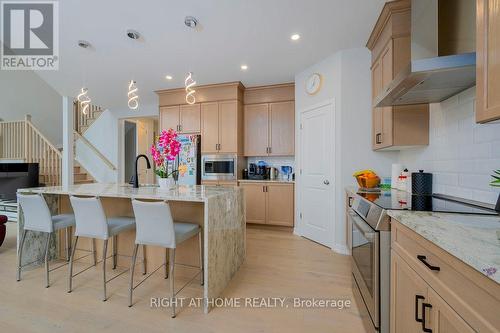
M 130 284 L 129 284 L 129 307 L 132 306 L 132 292 L 142 282 L 149 278 L 144 278 L 137 286 L 134 287 L 134 267 L 137 259 L 137 250 L 139 245 L 152 245 L 166 248 L 166 252 L 170 252 L 170 260 L 167 260 L 167 253 L 165 253 L 165 278 L 169 274 L 167 266 L 170 266 L 170 292 L 171 292 L 171 306 L 172 318 L 175 318 L 175 296 L 191 281 L 193 281 L 198 274 L 201 274 L 200 280 L 203 285 L 203 247 L 201 238 L 201 227 L 195 223 L 179 223 L 174 222 L 170 212 L 170 205 L 166 201 L 145 202 L 139 200 L 132 200 L 132 207 L 134 209 L 136 221 L 136 237 L 135 248 L 132 256 L 132 264 L 130 267 Z M 175 265 L 175 248 L 178 244 L 198 235 L 198 244 L 200 250 L 200 266 L 183 265 L 189 267 L 199 268 L 199 271 L 189 280 L 179 291 L 176 293 L 174 289 L 174 265 Z M 168 261 L 169 264 L 168 265 Z M 179 264 L 180 265 L 180 264 Z M 163 266 L 163 265 L 162 265 Z M 161 266 L 160 266 L 161 267 Z

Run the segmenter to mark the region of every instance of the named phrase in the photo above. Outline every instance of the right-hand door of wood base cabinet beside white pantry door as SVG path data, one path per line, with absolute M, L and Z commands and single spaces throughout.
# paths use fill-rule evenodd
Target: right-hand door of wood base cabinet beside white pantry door
M 267 224 L 293 227 L 293 184 L 266 184 Z

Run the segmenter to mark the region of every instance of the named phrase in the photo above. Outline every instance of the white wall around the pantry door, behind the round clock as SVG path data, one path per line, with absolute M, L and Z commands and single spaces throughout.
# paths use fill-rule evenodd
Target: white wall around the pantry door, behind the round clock
M 391 164 L 398 157 L 397 152 L 372 151 L 370 62 L 370 52 L 366 48 L 344 50 L 295 76 L 297 119 L 302 110 L 335 100 L 336 171 L 333 181 L 335 202 L 332 203 L 335 206 L 335 227 L 332 249 L 340 253 L 346 252 L 344 188 L 355 185 L 352 173 L 371 168 L 381 176 L 390 176 Z M 304 90 L 305 81 L 314 72 L 323 76 L 323 86 L 316 95 L 309 96 Z

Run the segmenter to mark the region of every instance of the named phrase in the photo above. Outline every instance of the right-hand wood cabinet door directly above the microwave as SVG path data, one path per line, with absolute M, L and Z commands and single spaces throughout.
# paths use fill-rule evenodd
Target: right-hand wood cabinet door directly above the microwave
M 219 102 L 219 152 L 238 152 L 238 102 Z

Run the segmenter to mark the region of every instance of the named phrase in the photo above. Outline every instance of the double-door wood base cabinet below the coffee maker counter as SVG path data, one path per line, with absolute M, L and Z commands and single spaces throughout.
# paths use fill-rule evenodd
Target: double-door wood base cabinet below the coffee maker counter
M 294 185 L 240 183 L 245 191 L 247 223 L 293 227 Z

